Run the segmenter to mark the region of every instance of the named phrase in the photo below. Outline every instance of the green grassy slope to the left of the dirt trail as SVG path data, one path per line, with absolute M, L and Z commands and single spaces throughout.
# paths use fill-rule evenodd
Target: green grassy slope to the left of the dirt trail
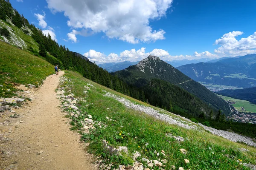
M 41 85 L 53 73 L 49 62 L 0 41 L 0 97 L 13 96 L 17 84 Z

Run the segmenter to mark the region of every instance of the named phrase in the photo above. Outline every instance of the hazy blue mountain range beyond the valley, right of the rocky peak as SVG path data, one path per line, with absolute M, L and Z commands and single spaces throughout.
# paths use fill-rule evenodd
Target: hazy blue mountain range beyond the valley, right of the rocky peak
M 177 69 L 191 79 L 205 84 L 242 88 L 256 86 L 256 54 L 182 65 Z

